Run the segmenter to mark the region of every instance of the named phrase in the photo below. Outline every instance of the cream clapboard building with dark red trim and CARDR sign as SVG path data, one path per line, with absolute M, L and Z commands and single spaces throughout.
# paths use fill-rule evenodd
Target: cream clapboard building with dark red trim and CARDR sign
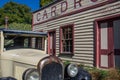
M 33 12 L 47 53 L 98 68 L 120 67 L 120 1 L 58 0 Z

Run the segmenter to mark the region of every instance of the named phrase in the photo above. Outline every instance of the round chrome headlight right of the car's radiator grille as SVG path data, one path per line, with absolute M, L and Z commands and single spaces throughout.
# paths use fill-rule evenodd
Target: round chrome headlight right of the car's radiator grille
M 69 64 L 67 67 L 67 73 L 70 77 L 75 77 L 78 74 L 78 67 L 75 64 Z

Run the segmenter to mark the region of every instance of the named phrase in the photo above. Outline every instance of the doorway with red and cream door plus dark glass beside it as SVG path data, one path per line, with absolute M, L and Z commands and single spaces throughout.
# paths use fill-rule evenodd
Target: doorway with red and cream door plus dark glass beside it
M 99 67 L 120 68 L 120 18 L 98 22 Z

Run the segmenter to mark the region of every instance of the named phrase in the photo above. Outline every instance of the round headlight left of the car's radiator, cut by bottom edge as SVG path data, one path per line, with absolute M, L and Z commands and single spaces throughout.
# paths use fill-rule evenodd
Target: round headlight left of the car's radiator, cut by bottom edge
M 23 80 L 39 80 L 37 69 L 29 68 L 23 73 Z

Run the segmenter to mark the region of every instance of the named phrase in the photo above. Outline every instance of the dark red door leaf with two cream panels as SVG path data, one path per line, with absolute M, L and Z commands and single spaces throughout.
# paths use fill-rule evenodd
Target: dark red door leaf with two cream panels
M 99 23 L 100 30 L 100 67 L 110 68 L 114 66 L 114 43 L 113 43 L 113 22 L 106 21 Z

